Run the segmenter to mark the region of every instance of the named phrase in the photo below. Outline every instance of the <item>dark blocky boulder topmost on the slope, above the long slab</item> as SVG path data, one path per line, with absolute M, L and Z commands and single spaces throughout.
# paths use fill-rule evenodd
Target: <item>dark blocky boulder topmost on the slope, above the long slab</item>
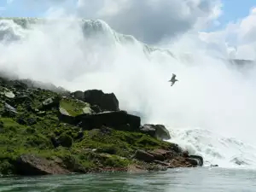
M 103 110 L 119 111 L 119 101 L 113 93 L 103 93 L 102 90 L 84 91 L 84 102 L 97 105 Z

